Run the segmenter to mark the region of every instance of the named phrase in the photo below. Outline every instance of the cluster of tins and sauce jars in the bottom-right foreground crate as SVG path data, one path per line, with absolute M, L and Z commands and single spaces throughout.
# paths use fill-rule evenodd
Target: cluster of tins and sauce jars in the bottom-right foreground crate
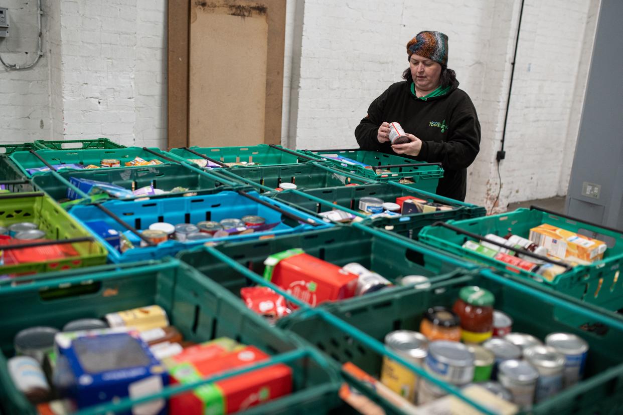
M 539 403 L 581 380 L 589 349 L 583 338 L 550 333 L 541 341 L 513 332 L 511 317 L 493 309 L 494 304 L 487 289 L 463 287 L 451 309 L 430 307 L 419 332 L 388 333 L 385 345 L 440 381 L 458 388 L 478 385 L 519 407 Z M 447 394 L 388 357 L 381 382 L 419 406 Z

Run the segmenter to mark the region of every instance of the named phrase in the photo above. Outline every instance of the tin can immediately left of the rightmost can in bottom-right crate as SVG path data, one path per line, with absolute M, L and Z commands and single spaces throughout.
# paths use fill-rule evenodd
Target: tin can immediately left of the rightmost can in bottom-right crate
M 536 381 L 535 401 L 537 403 L 563 390 L 564 355 L 551 346 L 532 346 L 523 355 L 539 372 Z

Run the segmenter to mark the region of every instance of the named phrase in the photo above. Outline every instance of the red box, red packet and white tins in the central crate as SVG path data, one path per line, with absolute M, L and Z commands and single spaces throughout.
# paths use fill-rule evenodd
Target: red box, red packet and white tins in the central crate
M 264 261 L 264 279 L 282 288 L 312 307 L 326 301 L 340 301 L 365 296 L 394 286 L 389 279 L 370 271 L 359 263 L 337 266 L 307 254 L 300 248 L 270 255 Z M 429 279 L 409 275 L 396 279 L 400 286 L 430 287 Z M 256 286 L 240 289 L 240 297 L 249 309 L 274 322 L 298 309 L 296 304 L 270 287 Z

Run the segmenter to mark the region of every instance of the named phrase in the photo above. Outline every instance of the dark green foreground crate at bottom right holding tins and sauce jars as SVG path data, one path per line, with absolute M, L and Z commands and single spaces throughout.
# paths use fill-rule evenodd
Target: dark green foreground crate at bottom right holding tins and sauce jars
M 483 271 L 489 273 L 490 271 Z M 540 293 L 536 296 L 526 287 L 505 281 L 494 274 L 467 273 L 464 276 L 437 282 L 427 290 L 396 292 L 392 297 L 334 303 L 330 312 L 360 332 L 384 341 L 394 330 L 419 330 L 422 314 L 428 307 L 452 307 L 461 287 L 476 285 L 493 292 L 495 309 L 513 319 L 513 331 L 531 333 L 543 339 L 548 333 L 574 333 L 589 343 L 585 379 L 546 401 L 535 404 L 530 414 L 616 414 L 623 408 L 623 342 L 621 321 L 607 327 L 606 333 L 589 332 L 570 321 L 583 322 L 585 327 L 602 324 L 603 315 L 587 312 L 577 304 L 559 301 Z M 589 317 L 587 317 L 589 316 Z M 609 320 L 605 320 L 609 321 Z M 340 363 L 351 361 L 373 376 L 379 376 L 382 357 L 357 335 L 328 324 L 318 316 L 293 314 L 280 320 L 279 327 L 307 338 Z M 594 327 L 594 326 L 593 326 Z M 604 328 L 601 326 L 602 329 Z

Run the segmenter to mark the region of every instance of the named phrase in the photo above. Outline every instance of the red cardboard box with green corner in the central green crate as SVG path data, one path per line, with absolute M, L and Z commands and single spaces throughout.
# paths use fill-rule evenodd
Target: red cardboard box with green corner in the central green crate
M 265 279 L 313 307 L 321 302 L 353 297 L 359 278 L 337 265 L 304 253 L 302 249 L 273 254 L 264 264 L 267 265 Z

